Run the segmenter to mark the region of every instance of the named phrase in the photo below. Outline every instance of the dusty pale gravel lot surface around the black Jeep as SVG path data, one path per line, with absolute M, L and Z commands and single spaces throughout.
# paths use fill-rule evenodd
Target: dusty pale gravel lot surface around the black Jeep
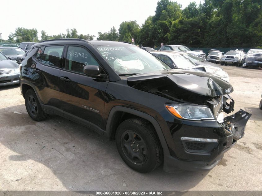
M 223 68 L 235 112 L 252 116 L 245 136 L 209 172 L 135 172 L 114 141 L 55 115 L 33 121 L 19 86 L 0 87 L 0 190 L 262 190 L 262 70 Z

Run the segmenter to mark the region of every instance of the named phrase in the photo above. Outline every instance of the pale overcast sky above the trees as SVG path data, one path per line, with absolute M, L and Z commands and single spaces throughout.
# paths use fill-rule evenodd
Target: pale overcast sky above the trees
M 201 0 L 177 0 L 183 8 L 190 2 Z M 204 0 L 202 0 L 203 2 Z M 76 28 L 78 34 L 98 36 L 113 26 L 118 30 L 123 21 L 136 20 L 141 25 L 154 15 L 158 0 L 1 0 L 0 33 L 8 39 L 17 27 L 36 28 L 48 35 L 65 33 Z

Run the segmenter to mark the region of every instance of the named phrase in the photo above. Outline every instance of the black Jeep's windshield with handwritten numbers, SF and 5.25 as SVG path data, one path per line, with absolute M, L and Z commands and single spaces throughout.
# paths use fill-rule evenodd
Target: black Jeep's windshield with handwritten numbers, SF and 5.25
M 94 46 L 118 74 L 146 73 L 171 69 L 153 54 L 137 46 Z

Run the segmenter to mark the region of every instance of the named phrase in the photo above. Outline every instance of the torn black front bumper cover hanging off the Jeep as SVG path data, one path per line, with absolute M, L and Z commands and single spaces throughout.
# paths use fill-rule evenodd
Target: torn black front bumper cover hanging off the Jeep
M 209 138 L 203 140 L 204 138 L 193 137 L 194 141 L 192 141 L 192 138 L 183 141 L 184 138 L 181 137 L 180 143 L 182 144 L 182 148 L 178 147 L 178 149 L 183 150 L 183 152 L 176 153 L 175 156 L 164 152 L 164 170 L 172 171 L 174 168 L 180 168 L 189 171 L 208 171 L 214 168 L 223 158 L 224 153 L 244 136 L 246 123 L 250 117 L 251 114 L 242 109 L 233 115 L 225 117 L 224 122 L 219 124 L 220 130 L 224 130 L 225 135 L 220 134 L 220 137 L 216 139 Z M 207 125 L 207 127 L 209 126 Z M 208 128 L 206 127 L 194 127 L 194 131 L 197 133 L 194 135 L 201 135 L 199 133 L 203 129 L 206 129 L 208 132 Z M 202 148 L 202 146 L 204 147 Z M 179 156 L 181 158 L 178 158 Z M 193 157 L 195 160 L 186 159 L 186 157 Z

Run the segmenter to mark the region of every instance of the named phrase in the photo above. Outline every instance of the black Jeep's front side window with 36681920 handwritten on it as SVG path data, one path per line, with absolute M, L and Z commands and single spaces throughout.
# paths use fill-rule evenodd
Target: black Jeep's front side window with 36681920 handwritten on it
M 66 67 L 65 69 L 84 73 L 83 68 L 86 65 L 97 65 L 97 61 L 92 55 L 84 48 L 78 46 L 69 46 L 66 54 Z

